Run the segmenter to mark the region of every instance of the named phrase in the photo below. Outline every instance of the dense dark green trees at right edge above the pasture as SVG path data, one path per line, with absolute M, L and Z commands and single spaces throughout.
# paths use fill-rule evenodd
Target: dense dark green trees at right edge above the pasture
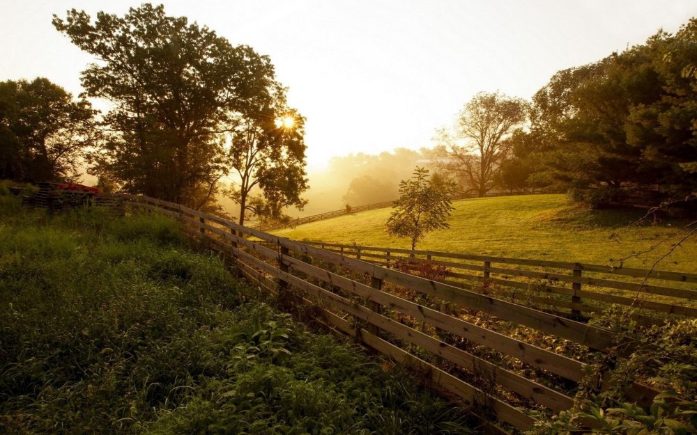
M 535 94 L 537 145 L 526 157 L 545 162 L 547 182 L 592 207 L 697 190 L 697 81 L 684 74 L 697 61 L 695 29 L 693 18 L 675 35 L 557 72 Z

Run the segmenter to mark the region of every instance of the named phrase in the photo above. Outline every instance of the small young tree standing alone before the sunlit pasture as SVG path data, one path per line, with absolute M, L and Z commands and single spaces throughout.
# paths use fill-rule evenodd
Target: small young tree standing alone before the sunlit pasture
M 412 251 L 427 232 L 450 228 L 445 221 L 454 210 L 450 205 L 454 183 L 428 173 L 417 166 L 411 179 L 399 182 L 399 200 L 385 228 L 390 235 L 409 237 Z

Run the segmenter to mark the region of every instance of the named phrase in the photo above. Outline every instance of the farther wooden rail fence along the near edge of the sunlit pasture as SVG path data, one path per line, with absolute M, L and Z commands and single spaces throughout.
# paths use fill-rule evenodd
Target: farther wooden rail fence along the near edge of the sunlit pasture
M 697 317 L 697 274 L 655 269 L 305 242 L 385 267 L 444 267 L 445 283 L 563 315 L 592 316 L 611 304 L 636 308 L 642 322 Z M 663 315 L 654 317 L 657 313 Z

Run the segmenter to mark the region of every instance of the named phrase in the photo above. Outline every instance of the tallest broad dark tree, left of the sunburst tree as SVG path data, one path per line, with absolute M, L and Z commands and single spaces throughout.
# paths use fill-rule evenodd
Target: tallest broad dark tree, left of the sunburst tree
M 126 191 L 204 205 L 226 168 L 231 116 L 270 99 L 269 58 L 149 3 L 94 22 L 73 9 L 53 24 L 98 60 L 82 72 L 86 94 L 113 104 L 99 171 Z

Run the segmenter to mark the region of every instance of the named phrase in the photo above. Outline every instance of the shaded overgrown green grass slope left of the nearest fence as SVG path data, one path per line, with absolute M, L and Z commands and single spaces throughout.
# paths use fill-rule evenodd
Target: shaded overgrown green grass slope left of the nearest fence
M 0 191 L 0 433 L 468 434 L 463 411 L 264 303 L 173 221 Z

